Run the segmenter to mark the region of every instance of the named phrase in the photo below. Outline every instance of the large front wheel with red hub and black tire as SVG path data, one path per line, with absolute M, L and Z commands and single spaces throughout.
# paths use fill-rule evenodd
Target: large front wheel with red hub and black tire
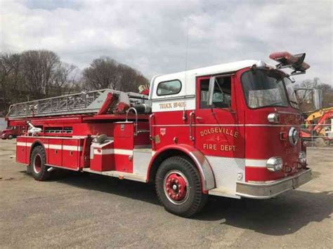
M 175 182 L 175 179 L 186 182 L 185 196 L 184 191 L 180 191 L 184 190 L 182 184 Z M 160 203 L 174 215 L 190 217 L 200 212 L 207 203 L 207 194 L 202 193 L 200 174 L 185 157 L 172 156 L 162 162 L 156 173 L 155 188 Z M 180 200 L 175 199 L 178 195 Z

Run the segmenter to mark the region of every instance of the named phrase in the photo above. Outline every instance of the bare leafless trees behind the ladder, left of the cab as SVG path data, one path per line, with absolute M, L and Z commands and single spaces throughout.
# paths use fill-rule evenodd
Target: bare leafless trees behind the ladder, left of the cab
M 77 67 L 61 62 L 52 51 L 0 53 L 0 111 L 4 112 L 15 102 L 79 92 L 82 88 L 136 92 L 138 86 L 147 84 L 141 72 L 107 57 L 93 60 L 79 74 Z

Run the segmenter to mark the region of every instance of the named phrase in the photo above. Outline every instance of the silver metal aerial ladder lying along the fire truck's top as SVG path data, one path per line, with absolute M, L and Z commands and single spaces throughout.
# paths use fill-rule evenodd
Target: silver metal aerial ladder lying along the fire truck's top
M 6 115 L 8 120 L 32 117 L 60 116 L 70 114 L 122 114 L 131 106 L 145 105 L 148 96 L 140 93 L 124 93 L 119 90 L 103 89 L 88 92 L 48 97 L 11 105 Z

